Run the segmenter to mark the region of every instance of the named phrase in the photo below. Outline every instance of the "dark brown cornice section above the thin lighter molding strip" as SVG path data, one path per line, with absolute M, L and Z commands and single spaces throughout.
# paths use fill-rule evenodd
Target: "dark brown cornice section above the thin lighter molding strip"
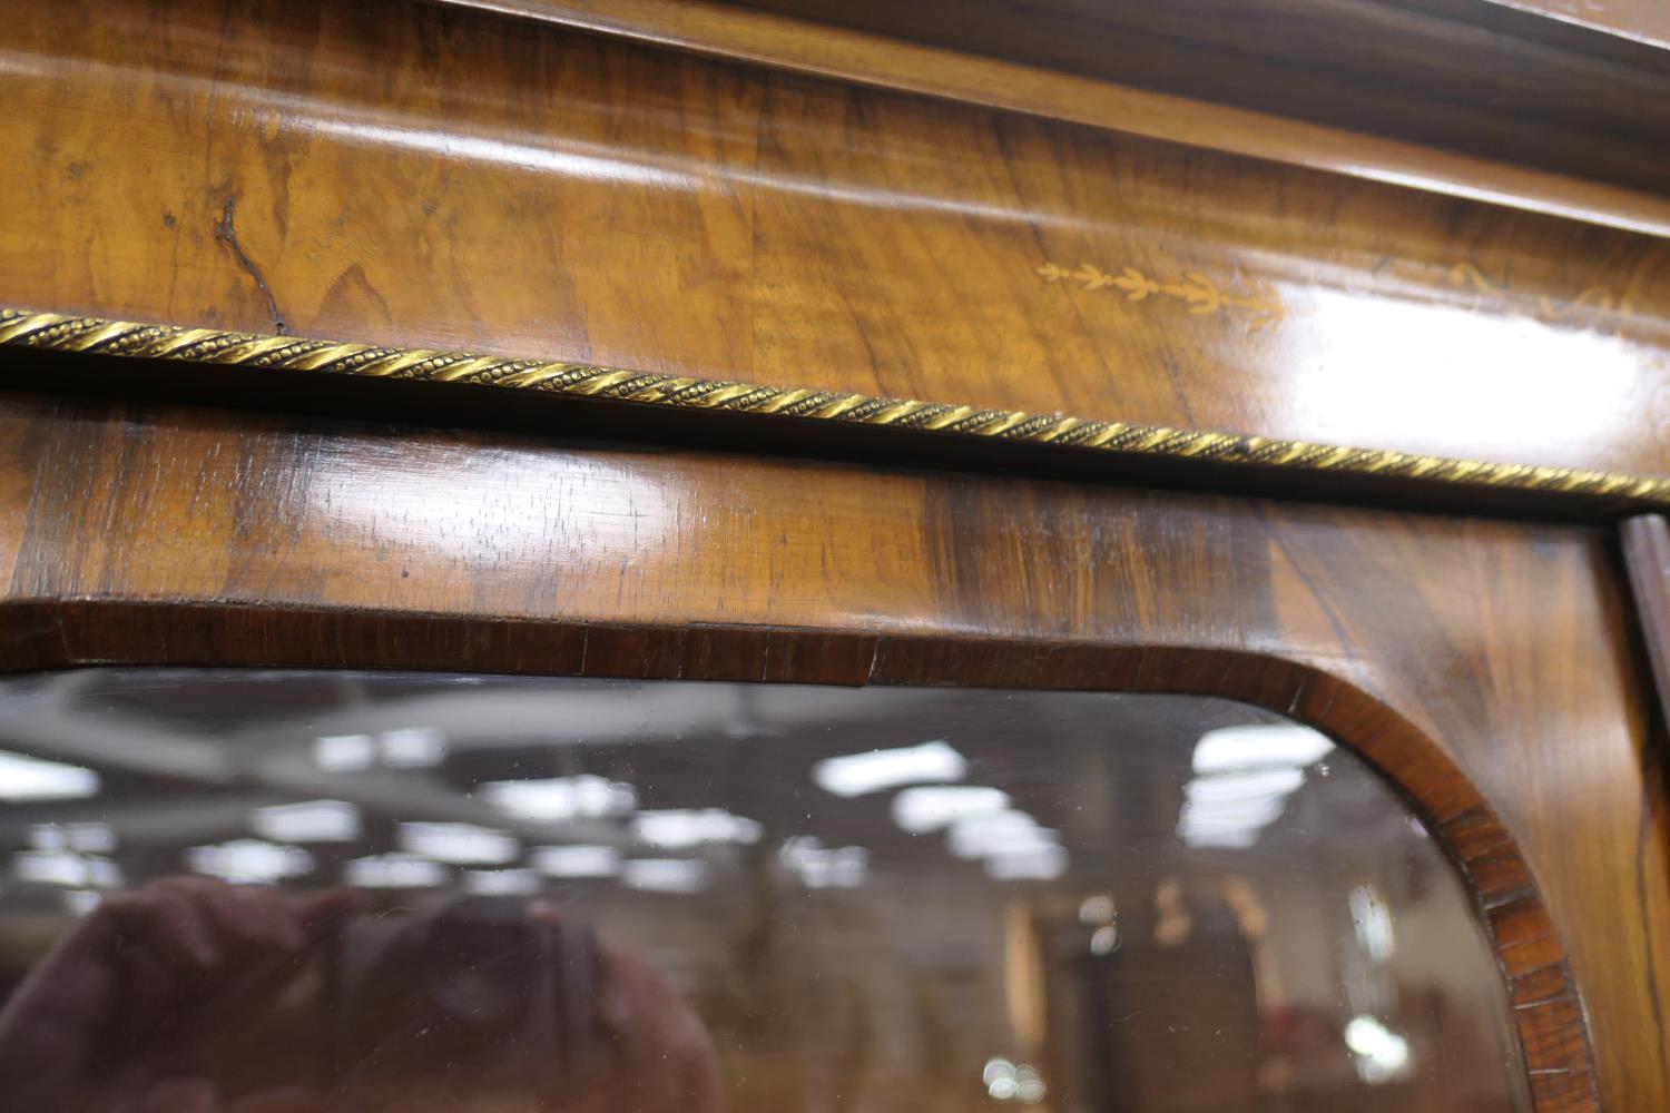
M 1491 0 L 746 3 L 1647 190 L 1670 185 L 1660 155 L 1670 52 Z

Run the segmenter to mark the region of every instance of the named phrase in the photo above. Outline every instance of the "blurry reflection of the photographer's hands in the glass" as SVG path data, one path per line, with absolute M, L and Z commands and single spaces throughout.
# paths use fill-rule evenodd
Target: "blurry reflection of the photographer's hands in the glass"
M 444 1066 L 352 1101 L 287 1086 L 222 1101 L 209 1046 L 249 1025 L 299 971 L 309 941 L 356 903 L 271 886 L 167 878 L 109 896 L 65 934 L 0 1010 L 0 1095 L 30 1113 L 418 1113 L 468 1111 Z M 554 914 L 531 904 L 529 914 Z M 716 1066 L 706 1030 L 638 956 L 608 943 L 596 1008 L 610 1065 L 503 1108 L 708 1113 Z M 451 1066 L 451 1065 L 448 1065 Z M 559 1090 L 559 1091 L 558 1091 Z

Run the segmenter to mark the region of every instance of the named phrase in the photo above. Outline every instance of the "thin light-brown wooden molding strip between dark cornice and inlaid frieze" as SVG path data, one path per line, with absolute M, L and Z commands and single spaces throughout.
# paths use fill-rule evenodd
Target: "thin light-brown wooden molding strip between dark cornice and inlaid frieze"
M 1670 237 L 1670 197 L 1645 190 L 713 0 L 441 2 Z

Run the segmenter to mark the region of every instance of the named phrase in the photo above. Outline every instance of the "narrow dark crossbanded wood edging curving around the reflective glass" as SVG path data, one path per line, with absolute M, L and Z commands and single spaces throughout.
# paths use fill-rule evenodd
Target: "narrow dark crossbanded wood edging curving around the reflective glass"
M 1237 699 L 1378 768 L 1476 901 L 1536 1113 L 1593 1113 L 1576 983 L 1513 836 L 1450 756 L 1363 689 L 1258 652 L 763 626 L 613 626 L 401 611 L 35 599 L 0 604 L 0 671 L 90 664 L 374 667 L 690 681 L 1141 691 Z

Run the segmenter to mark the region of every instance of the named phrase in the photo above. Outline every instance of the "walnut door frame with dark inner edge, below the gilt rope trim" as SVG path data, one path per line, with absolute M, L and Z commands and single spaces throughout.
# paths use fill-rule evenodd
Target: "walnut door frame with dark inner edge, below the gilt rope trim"
M 0 409 L 10 667 L 1136 686 L 1319 723 L 1466 863 L 1543 1111 L 1593 1108 L 1561 941 L 1607 1108 L 1670 1108 L 1670 816 L 1608 552 L 1583 526 Z

